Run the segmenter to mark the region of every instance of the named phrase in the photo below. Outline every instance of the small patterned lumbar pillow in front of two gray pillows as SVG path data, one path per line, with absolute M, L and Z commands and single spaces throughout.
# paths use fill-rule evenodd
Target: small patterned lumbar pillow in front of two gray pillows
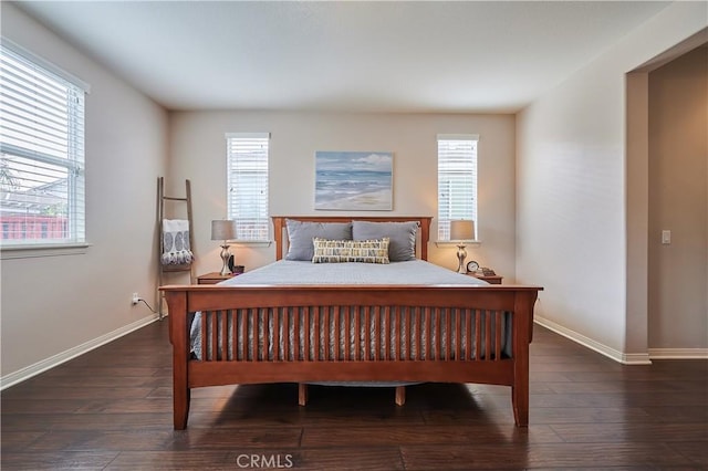
M 313 238 L 312 263 L 388 263 L 389 239 L 377 240 L 329 240 Z

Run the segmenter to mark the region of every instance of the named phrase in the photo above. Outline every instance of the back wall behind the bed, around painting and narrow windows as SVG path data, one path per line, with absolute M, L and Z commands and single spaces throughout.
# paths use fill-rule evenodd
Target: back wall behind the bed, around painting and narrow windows
M 512 115 L 179 112 L 171 114 L 169 185 L 189 178 L 195 201 L 198 273 L 220 269 L 210 221 L 226 217 L 227 132 L 270 132 L 270 213 L 315 214 L 315 150 L 394 153 L 394 210 L 374 216 L 436 216 L 438 133 L 480 135 L 479 238 L 468 260 L 514 279 L 514 117 Z M 331 213 L 330 211 L 319 211 Z M 363 214 L 363 213 L 361 213 Z M 369 213 L 371 214 L 371 213 Z M 434 220 L 434 227 L 437 222 Z M 435 233 L 434 228 L 434 233 Z M 456 248 L 429 245 L 430 261 L 455 269 Z M 232 247 L 253 269 L 274 260 L 274 247 Z

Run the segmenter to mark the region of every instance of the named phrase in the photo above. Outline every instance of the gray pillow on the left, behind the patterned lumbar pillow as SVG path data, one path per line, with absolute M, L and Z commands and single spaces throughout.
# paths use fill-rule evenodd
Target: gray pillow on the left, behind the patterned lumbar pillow
M 351 222 L 306 222 L 285 219 L 288 228 L 288 254 L 285 260 L 312 261 L 312 239 L 352 240 Z

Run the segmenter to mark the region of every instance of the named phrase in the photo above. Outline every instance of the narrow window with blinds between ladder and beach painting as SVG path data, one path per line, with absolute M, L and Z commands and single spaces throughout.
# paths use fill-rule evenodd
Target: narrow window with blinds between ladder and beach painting
M 268 133 L 227 134 L 228 219 L 239 241 L 269 240 Z

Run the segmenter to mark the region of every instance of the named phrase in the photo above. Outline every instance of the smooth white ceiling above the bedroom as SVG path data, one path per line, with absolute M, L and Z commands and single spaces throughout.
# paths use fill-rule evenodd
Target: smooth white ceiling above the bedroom
M 514 113 L 669 3 L 15 4 L 168 109 Z

